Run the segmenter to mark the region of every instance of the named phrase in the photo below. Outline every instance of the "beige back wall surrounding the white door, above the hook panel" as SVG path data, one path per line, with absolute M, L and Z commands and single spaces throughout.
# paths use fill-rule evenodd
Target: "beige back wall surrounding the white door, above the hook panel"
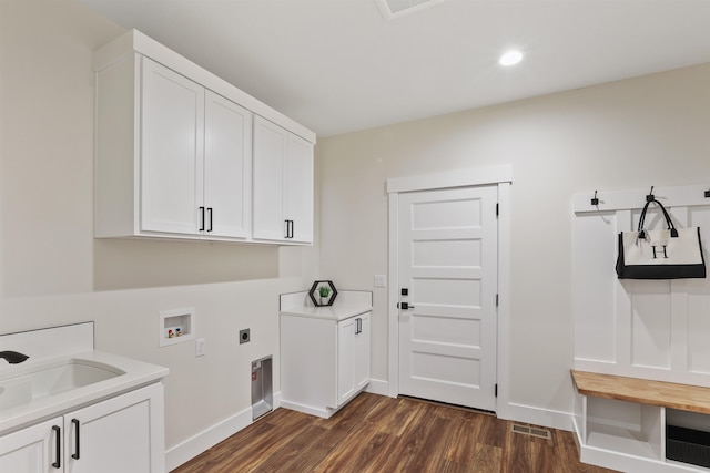
M 707 181 L 709 84 L 706 64 L 322 138 L 321 276 L 367 288 L 387 273 L 388 177 L 511 164 L 511 379 L 500 382 L 509 412 L 552 423 L 546 411 L 571 412 L 572 195 Z M 375 289 L 381 380 L 385 305 Z

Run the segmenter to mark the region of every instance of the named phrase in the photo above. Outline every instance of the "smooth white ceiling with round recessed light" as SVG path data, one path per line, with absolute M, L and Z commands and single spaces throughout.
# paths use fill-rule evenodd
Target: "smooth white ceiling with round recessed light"
M 81 1 L 320 136 L 710 62 L 710 0 Z

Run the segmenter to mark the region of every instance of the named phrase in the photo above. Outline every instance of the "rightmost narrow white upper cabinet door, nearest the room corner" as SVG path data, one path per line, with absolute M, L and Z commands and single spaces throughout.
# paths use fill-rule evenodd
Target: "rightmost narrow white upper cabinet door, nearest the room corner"
M 313 241 L 313 144 L 288 134 L 286 206 L 293 241 Z

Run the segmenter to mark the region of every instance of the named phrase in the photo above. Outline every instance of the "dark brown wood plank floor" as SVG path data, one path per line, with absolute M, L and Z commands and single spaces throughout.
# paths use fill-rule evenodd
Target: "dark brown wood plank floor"
M 602 473 L 570 432 L 511 432 L 476 411 L 363 393 L 331 419 L 277 409 L 173 473 Z

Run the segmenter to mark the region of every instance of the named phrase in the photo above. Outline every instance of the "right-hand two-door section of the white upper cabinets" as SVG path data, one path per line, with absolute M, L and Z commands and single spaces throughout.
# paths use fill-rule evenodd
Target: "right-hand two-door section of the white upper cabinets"
M 313 144 L 254 117 L 255 239 L 313 243 Z

